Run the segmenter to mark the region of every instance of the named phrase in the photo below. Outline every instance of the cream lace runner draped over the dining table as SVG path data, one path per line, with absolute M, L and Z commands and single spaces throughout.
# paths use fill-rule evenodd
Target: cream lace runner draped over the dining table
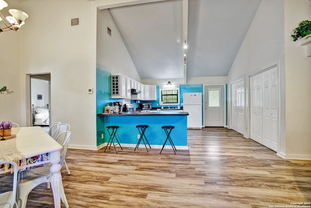
M 17 150 L 16 138 L 0 141 L 0 161 L 14 161 L 24 169 L 26 165 L 25 156 Z M 8 171 L 8 169 L 9 164 L 5 164 L 4 171 Z

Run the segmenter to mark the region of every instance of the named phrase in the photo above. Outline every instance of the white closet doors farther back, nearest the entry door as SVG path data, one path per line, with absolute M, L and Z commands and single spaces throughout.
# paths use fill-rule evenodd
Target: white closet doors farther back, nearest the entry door
M 244 79 L 231 85 L 232 100 L 232 129 L 240 134 L 244 134 L 244 115 L 245 115 L 245 99 L 244 99 Z

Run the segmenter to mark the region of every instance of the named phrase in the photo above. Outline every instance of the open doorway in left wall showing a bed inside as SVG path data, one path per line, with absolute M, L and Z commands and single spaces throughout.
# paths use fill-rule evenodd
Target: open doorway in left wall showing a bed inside
M 30 75 L 31 126 L 48 129 L 51 123 L 51 74 Z

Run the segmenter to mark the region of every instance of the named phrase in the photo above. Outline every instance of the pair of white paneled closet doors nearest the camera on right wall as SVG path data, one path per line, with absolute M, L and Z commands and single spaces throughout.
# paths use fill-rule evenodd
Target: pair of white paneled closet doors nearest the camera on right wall
M 277 68 L 250 77 L 251 139 L 277 151 Z

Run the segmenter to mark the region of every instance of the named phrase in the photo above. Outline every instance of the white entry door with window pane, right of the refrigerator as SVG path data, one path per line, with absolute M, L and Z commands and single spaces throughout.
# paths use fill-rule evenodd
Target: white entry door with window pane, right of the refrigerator
M 224 126 L 224 86 L 205 86 L 205 126 Z

